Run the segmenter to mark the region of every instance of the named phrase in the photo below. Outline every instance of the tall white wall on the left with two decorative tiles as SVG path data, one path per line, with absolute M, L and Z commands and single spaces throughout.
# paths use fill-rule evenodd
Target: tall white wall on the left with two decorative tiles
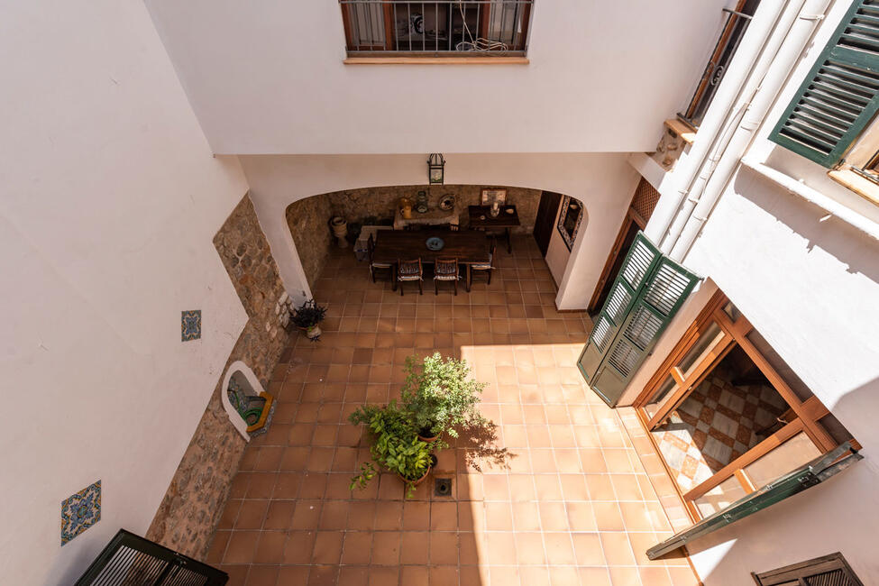
M 0 63 L 0 581 L 70 584 L 146 531 L 243 328 L 211 239 L 247 186 L 140 2 L 4 3 Z M 61 500 L 98 479 L 62 548 Z

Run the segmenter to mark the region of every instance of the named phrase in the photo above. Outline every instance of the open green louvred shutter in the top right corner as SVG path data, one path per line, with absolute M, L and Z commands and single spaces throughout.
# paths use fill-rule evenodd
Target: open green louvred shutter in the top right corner
M 879 0 L 857 0 L 769 140 L 831 168 L 879 109 Z

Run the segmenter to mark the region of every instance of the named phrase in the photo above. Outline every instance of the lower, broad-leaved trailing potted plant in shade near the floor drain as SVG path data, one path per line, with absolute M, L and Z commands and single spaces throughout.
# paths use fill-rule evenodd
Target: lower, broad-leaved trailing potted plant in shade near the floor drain
M 385 407 L 365 405 L 351 414 L 353 425 L 366 425 L 372 435 L 370 453 L 373 462 L 395 472 L 406 485 L 411 498 L 415 487 L 425 481 L 435 456 L 430 446 L 418 440 L 410 414 L 394 401 Z M 366 488 L 378 472 L 372 462 L 361 465 L 361 472 L 351 479 L 350 490 Z

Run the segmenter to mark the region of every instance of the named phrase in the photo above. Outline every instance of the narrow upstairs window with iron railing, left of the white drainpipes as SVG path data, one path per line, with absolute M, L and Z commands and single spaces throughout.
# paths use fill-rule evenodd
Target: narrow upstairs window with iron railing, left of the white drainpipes
M 702 124 L 702 118 L 708 111 L 708 106 L 720 86 L 720 80 L 726 74 L 733 55 L 736 54 L 738 44 L 745 36 L 748 23 L 757 9 L 760 0 L 738 0 L 735 10 L 724 8 L 723 12 L 727 15 L 727 21 L 724 23 L 723 31 L 711 56 L 699 85 L 690 100 L 690 105 L 681 114 L 678 114 L 684 122 L 690 124 L 694 129 L 699 128 Z

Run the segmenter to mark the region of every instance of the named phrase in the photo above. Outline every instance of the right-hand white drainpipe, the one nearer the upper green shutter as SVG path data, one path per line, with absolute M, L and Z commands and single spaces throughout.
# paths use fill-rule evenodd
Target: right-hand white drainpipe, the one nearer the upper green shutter
M 824 18 L 830 0 L 805 0 L 800 14 L 792 23 L 790 31 L 783 35 L 783 43 L 780 49 L 767 51 L 769 66 L 765 71 L 756 94 L 749 103 L 746 103 L 742 114 L 741 124 L 729 139 L 727 146 L 715 158 L 716 169 L 711 169 L 702 193 L 691 194 L 693 202 L 687 206 L 689 209 L 682 210 L 686 213 L 686 223 L 682 227 L 680 235 L 673 242 L 671 256 L 681 261 L 687 252 L 690 252 L 692 244 L 699 235 L 702 225 L 708 219 L 711 210 L 717 204 L 720 194 L 726 188 L 729 179 L 738 168 L 742 156 L 754 140 L 754 133 L 763 124 L 766 114 L 774 104 L 775 98 L 784 86 L 797 61 L 800 60 L 802 50 L 809 42 L 812 32 L 818 23 Z

